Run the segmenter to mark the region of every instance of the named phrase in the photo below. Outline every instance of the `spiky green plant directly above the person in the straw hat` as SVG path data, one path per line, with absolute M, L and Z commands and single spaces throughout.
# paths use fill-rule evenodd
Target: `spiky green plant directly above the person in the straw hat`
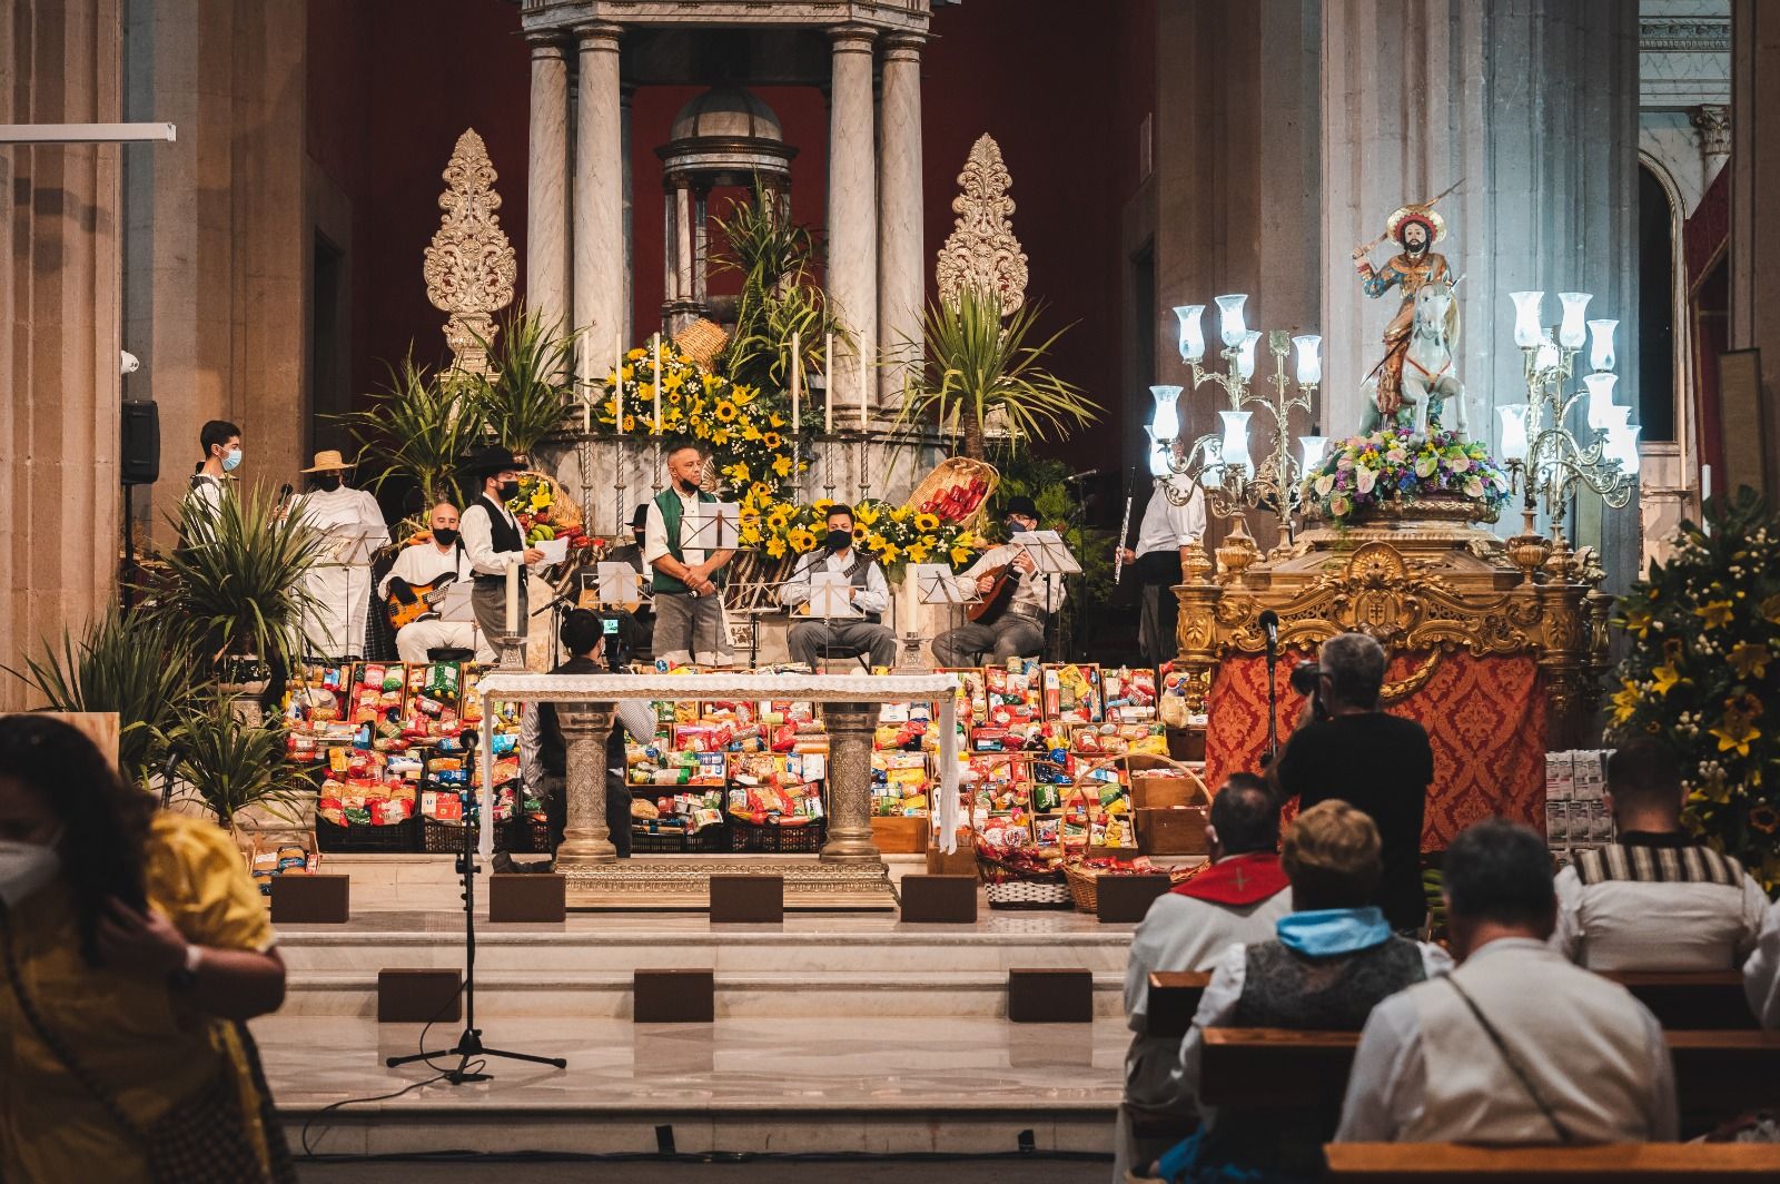
M 370 406 L 335 417 L 358 440 L 368 459 L 368 488 L 390 477 L 406 477 L 433 506 L 450 497 L 450 475 L 461 458 L 484 436 L 481 404 L 415 365 L 409 347 L 399 367 L 386 367 L 388 385 L 372 392 Z

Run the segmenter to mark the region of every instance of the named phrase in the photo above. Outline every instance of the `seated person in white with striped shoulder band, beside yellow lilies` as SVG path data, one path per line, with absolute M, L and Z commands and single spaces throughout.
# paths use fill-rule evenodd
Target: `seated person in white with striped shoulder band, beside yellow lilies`
M 1638 737 L 1607 758 L 1618 839 L 1558 872 L 1552 945 L 1590 970 L 1728 970 L 1755 949 L 1768 894 L 1680 828 L 1675 750 Z

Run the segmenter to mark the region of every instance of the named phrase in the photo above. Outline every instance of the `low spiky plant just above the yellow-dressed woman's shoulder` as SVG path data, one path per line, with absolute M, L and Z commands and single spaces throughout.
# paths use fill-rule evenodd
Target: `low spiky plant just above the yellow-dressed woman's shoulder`
M 285 757 L 283 726 L 246 723 L 222 696 L 183 709 L 162 742 L 178 753 L 174 778 L 224 828 L 233 828 L 235 815 L 249 807 L 295 821 L 303 792 L 312 789 L 303 769 Z

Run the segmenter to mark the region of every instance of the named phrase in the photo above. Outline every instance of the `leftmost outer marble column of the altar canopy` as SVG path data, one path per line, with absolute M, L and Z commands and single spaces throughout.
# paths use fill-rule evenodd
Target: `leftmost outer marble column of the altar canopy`
M 550 34 L 532 46 L 532 123 L 527 160 L 525 304 L 568 326 L 568 57 Z

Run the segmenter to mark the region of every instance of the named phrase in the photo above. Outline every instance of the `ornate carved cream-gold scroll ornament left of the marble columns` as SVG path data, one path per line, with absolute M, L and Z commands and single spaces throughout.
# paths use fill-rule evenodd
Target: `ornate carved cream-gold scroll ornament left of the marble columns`
M 443 313 L 445 342 L 456 367 L 466 374 L 488 372 L 488 342 L 495 340 L 495 313 L 513 303 L 518 260 L 500 230 L 500 194 L 495 166 L 475 128 L 457 137 L 445 166 L 440 194 L 440 228 L 422 264 L 427 299 Z

